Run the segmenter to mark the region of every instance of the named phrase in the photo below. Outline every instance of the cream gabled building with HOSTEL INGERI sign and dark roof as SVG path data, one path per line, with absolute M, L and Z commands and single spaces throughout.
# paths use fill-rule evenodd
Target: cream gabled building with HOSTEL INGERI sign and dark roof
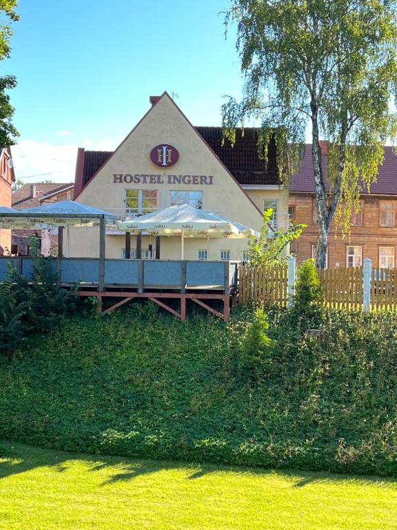
M 167 92 L 151 97 L 152 107 L 114 153 L 79 149 L 74 199 L 120 217 L 187 203 L 260 230 L 263 208 L 274 208 L 274 224 L 287 223 L 288 191 L 278 184 L 275 157 L 265 168 L 258 159 L 254 130 L 236 146 L 221 146 L 221 128 L 195 128 Z M 251 135 L 251 136 L 250 136 Z M 157 257 L 179 259 L 181 239 L 161 237 Z M 125 236 L 107 230 L 106 257 L 125 255 Z M 154 257 L 156 238 L 143 235 L 142 257 Z M 132 257 L 136 236 L 131 237 Z M 244 258 L 246 239 L 185 240 L 185 259 Z M 70 228 L 64 255 L 97 257 L 96 228 Z

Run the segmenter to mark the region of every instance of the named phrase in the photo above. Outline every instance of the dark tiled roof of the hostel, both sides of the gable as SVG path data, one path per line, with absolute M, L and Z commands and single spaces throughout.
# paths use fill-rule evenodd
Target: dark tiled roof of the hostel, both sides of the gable
M 225 141 L 224 146 L 222 146 L 221 127 L 196 127 L 196 130 L 239 184 L 280 184 L 277 175 L 274 140 L 269 145 L 266 167 L 265 161 L 258 156 L 258 137 L 255 128 L 246 128 L 244 135 L 241 134 L 241 130 L 237 130 L 234 147 L 230 145 L 229 141 Z M 112 151 L 84 151 L 83 186 L 92 179 L 112 154 Z

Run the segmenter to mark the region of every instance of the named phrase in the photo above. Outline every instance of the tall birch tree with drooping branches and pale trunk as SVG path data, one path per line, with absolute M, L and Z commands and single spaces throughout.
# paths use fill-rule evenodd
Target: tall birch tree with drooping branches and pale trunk
M 232 0 L 225 24 L 236 23 L 243 99 L 222 106 L 223 135 L 260 119 L 258 148 L 266 159 L 276 135 L 278 166 L 296 168 L 307 130 L 312 160 L 318 242 L 325 267 L 332 219 L 348 230 L 360 190 L 376 180 L 383 146 L 396 137 L 396 0 Z M 308 127 L 309 126 L 309 127 Z M 320 139 L 329 141 L 327 175 Z

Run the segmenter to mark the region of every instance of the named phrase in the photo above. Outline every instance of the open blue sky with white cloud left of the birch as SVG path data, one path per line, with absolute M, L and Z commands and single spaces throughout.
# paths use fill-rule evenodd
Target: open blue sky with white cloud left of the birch
M 223 95 L 241 96 L 228 0 L 20 0 L 11 58 L 17 178 L 74 179 L 78 146 L 110 150 L 176 92 L 195 125 L 220 125 Z M 41 175 L 48 173 L 48 175 Z M 30 175 L 39 175 L 37 178 Z

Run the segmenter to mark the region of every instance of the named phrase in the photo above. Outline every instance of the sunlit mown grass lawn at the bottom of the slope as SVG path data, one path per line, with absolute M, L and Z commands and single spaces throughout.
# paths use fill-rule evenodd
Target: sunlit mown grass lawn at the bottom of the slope
M 0 441 L 0 529 L 397 529 L 397 482 Z

